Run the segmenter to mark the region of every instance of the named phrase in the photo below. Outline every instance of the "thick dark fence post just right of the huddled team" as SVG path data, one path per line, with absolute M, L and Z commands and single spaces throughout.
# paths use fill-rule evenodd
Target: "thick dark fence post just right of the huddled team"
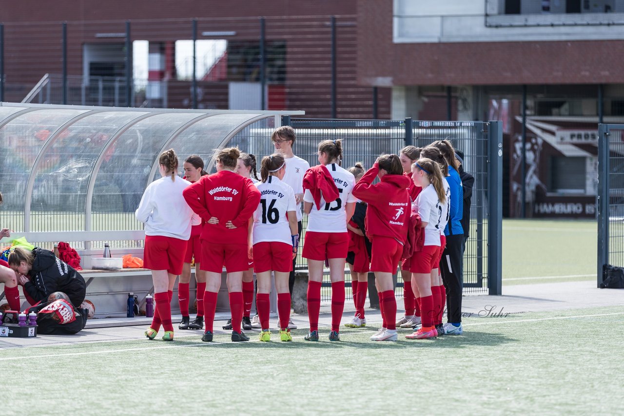
M 487 286 L 489 294 L 502 294 L 502 122 L 489 122 L 487 129 L 489 170 L 487 178 Z

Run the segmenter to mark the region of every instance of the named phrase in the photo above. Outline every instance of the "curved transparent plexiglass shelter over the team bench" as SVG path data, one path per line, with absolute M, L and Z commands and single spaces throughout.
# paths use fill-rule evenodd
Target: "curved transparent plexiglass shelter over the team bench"
M 163 150 L 174 148 L 180 165 L 200 155 L 210 170 L 215 149 L 298 114 L 0 103 L 0 223 L 16 232 L 140 230 L 134 211 Z

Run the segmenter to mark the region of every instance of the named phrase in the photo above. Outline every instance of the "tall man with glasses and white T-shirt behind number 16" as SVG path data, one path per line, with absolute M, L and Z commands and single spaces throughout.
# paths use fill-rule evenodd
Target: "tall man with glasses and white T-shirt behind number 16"
M 306 160 L 295 156 L 293 153 L 293 146 L 296 141 L 295 130 L 292 127 L 286 125 L 276 128 L 271 133 L 271 142 L 275 147 L 275 152 L 281 153 L 286 161 L 286 174 L 284 175 L 283 182 L 286 185 L 290 185 L 295 191 L 295 198 L 297 200 L 297 230 L 298 235 L 301 236 L 301 201 L 303 201 L 303 175 L 310 169 L 310 163 Z M 293 269 L 288 277 L 288 292 L 290 296 L 293 296 L 293 285 L 295 284 L 295 266 L 296 257 L 293 258 Z M 258 325 L 259 327 L 259 325 Z M 288 321 L 288 329 L 297 329 L 297 326 L 292 319 Z

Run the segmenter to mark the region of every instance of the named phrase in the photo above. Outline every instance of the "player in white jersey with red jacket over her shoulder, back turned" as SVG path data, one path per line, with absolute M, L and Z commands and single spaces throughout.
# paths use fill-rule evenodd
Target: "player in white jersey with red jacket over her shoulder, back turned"
M 308 214 L 308 228 L 303 257 L 308 259 L 308 318 L 310 332 L 306 341 L 318 341 L 318 316 L 321 307 L 323 263 L 329 261 L 331 279 L 331 332 L 329 341 L 340 341 L 338 331 L 344 310 L 344 263 L 349 251 L 347 223 L 353 216 L 357 199 L 351 194 L 353 173 L 340 167 L 343 156 L 341 140 L 324 140 L 318 146 L 321 165 L 310 168 L 303 180 L 303 211 Z M 331 183 L 333 180 L 333 183 Z M 338 198 L 327 202 L 323 190 Z

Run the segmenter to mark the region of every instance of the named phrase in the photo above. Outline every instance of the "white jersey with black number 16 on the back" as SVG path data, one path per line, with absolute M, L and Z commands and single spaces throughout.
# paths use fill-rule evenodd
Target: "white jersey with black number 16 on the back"
M 253 213 L 253 244 L 279 241 L 292 244 L 286 213 L 296 210 L 295 191 L 278 177 L 256 183 L 260 191 L 260 205 Z

